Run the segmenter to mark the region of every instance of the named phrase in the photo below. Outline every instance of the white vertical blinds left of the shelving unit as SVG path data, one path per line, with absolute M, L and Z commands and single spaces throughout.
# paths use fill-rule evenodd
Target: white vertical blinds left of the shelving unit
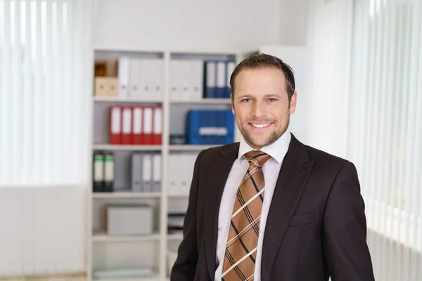
M 0 187 L 81 183 L 92 1 L 0 0 Z

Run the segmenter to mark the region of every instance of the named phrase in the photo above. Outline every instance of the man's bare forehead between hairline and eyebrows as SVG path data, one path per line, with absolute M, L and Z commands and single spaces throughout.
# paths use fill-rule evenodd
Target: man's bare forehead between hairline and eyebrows
M 257 67 L 241 70 L 236 77 L 236 92 L 245 91 L 283 91 L 286 78 L 276 67 Z

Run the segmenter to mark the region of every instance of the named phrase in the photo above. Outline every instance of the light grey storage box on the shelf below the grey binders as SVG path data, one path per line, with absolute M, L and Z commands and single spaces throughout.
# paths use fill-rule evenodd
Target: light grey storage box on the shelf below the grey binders
M 148 235 L 153 233 L 153 207 L 108 206 L 106 211 L 108 235 Z

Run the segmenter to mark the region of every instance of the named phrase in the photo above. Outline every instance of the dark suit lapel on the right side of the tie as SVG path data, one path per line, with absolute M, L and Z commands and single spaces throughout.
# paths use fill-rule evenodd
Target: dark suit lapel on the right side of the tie
M 276 254 L 313 165 L 314 161 L 309 160 L 305 145 L 292 134 L 269 208 L 262 246 L 262 281 L 269 280 Z

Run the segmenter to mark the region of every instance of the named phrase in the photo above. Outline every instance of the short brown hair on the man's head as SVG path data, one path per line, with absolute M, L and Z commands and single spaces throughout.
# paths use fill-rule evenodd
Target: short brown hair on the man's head
M 234 96 L 234 90 L 236 89 L 235 79 L 239 72 L 244 69 L 251 69 L 257 67 L 276 67 L 284 73 L 284 76 L 286 77 L 286 90 L 288 93 L 288 100 L 290 101 L 293 96 L 293 93 L 295 92 L 295 75 L 292 67 L 290 67 L 288 64 L 284 63 L 283 60 L 275 57 L 274 55 L 267 55 L 265 53 L 250 55 L 248 58 L 245 58 L 245 60 L 242 60 L 241 63 L 236 66 L 230 77 L 232 96 Z

